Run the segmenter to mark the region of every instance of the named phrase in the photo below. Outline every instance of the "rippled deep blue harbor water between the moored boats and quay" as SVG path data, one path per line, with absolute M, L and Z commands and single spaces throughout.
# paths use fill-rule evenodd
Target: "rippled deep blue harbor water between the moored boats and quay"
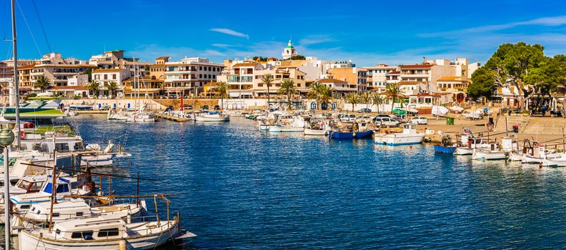
M 87 143 L 126 141 L 131 163 L 96 171 L 169 196 L 198 237 L 174 249 L 566 247 L 566 170 L 260 133 L 255 121 L 129 124 L 69 119 Z M 136 181 L 113 179 L 119 195 Z M 152 199 L 152 198 L 151 198 Z

